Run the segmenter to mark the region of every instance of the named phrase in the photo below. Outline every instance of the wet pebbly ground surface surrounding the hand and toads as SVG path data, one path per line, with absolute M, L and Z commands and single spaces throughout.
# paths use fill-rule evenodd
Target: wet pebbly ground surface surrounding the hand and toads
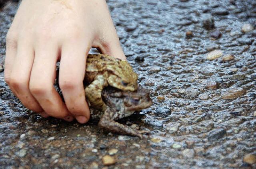
M 127 59 L 154 101 L 120 122 L 151 130 L 149 137 L 41 118 L 15 98 L 1 65 L 0 166 L 256 167 L 256 2 L 107 2 Z M 0 12 L 1 61 L 16 7 Z

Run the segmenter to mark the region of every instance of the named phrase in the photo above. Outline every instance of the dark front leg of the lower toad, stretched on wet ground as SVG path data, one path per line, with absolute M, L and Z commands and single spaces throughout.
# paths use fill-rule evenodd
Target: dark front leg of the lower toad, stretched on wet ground
M 118 122 L 115 122 L 110 118 L 112 112 L 110 109 L 106 109 L 105 113 L 102 115 L 100 119 L 99 126 L 108 132 L 113 132 L 122 135 L 130 135 L 130 136 L 138 136 L 139 138 L 143 138 L 142 132 L 130 128 L 128 126 L 124 126 Z

